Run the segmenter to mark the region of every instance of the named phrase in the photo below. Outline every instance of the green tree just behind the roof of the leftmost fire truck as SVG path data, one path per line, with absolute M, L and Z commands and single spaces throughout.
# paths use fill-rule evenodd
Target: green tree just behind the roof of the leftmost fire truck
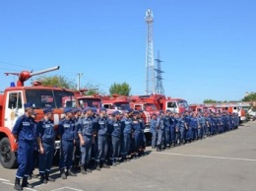
M 61 76 L 61 75 L 39 76 L 35 78 L 35 81 L 38 81 L 43 86 L 48 86 L 48 87 L 57 87 L 57 88 L 64 88 L 64 89 L 71 89 L 71 90 L 76 89 L 74 80 L 72 81 L 67 77 Z

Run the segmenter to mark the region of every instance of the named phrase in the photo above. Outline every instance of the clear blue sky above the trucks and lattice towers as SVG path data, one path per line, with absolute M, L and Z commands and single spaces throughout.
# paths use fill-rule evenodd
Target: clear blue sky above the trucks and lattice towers
M 166 96 L 200 103 L 255 91 L 254 0 L 1 0 L 0 91 L 14 80 L 4 72 L 60 65 L 52 75 L 83 72 L 82 84 L 108 92 L 127 82 L 144 95 L 148 8 Z

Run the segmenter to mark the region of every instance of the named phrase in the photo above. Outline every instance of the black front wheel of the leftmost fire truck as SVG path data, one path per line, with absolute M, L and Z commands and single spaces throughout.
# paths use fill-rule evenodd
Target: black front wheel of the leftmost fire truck
M 7 137 L 0 141 L 0 161 L 3 167 L 14 168 L 17 166 L 15 152 L 12 152 L 10 141 Z

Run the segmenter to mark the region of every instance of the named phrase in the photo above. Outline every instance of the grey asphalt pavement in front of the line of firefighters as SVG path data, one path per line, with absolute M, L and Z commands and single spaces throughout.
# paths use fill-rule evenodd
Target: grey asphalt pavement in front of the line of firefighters
M 31 191 L 255 191 L 256 122 L 221 135 L 53 183 L 30 182 Z M 0 166 L 0 191 L 13 190 L 17 169 Z M 35 169 L 35 172 L 37 169 Z

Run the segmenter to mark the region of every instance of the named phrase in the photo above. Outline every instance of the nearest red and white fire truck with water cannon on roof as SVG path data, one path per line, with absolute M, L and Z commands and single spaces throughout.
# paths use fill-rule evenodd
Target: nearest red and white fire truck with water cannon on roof
M 42 109 L 47 106 L 53 107 L 53 121 L 57 125 L 63 115 L 63 97 L 74 97 L 74 92 L 40 86 L 38 82 L 32 87 L 25 87 L 25 81 L 32 76 L 58 70 L 58 67 L 42 70 L 35 73 L 23 71 L 21 73 L 6 73 L 6 75 L 17 75 L 19 80 L 17 85 L 11 84 L 2 94 L 0 94 L 0 161 L 6 168 L 15 167 L 17 164 L 16 151 L 18 145 L 12 135 L 13 126 L 17 118 L 24 114 L 24 103 L 32 102 L 37 113 L 36 120 L 43 117 Z M 59 148 L 59 141 L 56 141 L 56 148 Z

